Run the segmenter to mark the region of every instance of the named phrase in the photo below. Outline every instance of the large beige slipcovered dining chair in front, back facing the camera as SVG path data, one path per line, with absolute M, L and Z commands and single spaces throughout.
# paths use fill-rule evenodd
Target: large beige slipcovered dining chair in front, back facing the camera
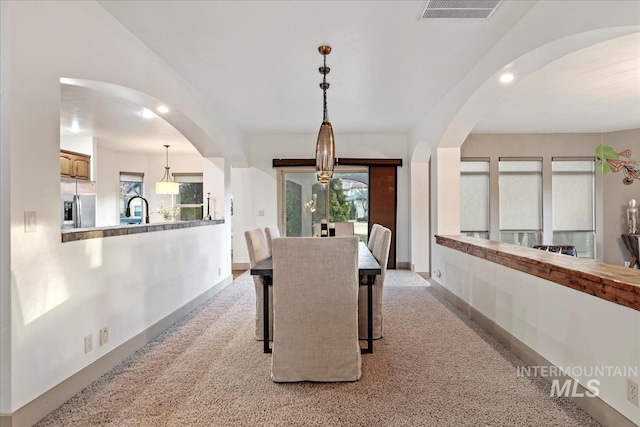
M 273 381 L 358 380 L 358 239 L 273 239 L 273 316 Z

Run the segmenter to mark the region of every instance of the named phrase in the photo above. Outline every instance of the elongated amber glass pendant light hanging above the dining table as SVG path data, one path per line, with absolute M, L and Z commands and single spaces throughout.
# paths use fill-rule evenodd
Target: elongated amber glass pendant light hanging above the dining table
M 329 89 L 327 74 L 331 71 L 331 69 L 327 67 L 327 55 L 331 53 L 331 46 L 320 46 L 318 52 L 324 57 L 324 63 L 322 67 L 318 69 L 320 74 L 322 74 L 320 89 L 322 89 L 323 116 L 320 132 L 318 132 L 318 142 L 316 144 L 316 174 L 318 176 L 318 182 L 322 185 L 327 185 L 333 176 L 336 158 L 336 143 L 333 138 L 333 127 L 327 114 L 327 89 Z

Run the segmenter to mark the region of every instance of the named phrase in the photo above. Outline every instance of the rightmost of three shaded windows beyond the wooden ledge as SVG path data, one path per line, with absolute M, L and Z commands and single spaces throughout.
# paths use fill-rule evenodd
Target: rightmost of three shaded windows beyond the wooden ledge
M 578 256 L 594 256 L 595 165 L 593 159 L 553 158 L 553 244 L 575 246 Z

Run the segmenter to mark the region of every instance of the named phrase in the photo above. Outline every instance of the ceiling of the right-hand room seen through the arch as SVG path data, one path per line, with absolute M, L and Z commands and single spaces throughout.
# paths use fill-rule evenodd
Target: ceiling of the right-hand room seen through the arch
M 508 91 L 475 133 L 612 132 L 640 128 L 640 33 L 547 65 Z

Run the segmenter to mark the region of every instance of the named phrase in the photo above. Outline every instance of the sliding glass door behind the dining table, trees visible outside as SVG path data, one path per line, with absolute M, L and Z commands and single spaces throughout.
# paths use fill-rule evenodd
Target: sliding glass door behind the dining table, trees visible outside
M 318 184 L 314 168 L 283 168 L 282 222 L 286 236 L 313 236 L 313 225 L 353 222 L 356 236 L 367 241 L 369 225 L 368 168 L 339 169 L 329 185 Z

